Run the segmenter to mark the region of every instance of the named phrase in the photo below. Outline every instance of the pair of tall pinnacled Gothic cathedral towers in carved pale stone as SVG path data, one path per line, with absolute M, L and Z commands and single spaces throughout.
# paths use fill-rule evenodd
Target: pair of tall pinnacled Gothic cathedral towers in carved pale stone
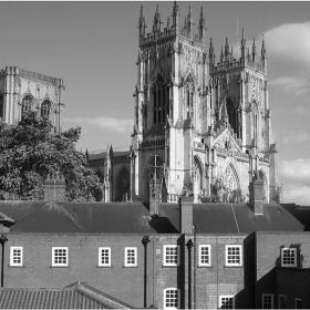
M 218 200 L 221 190 L 229 202 L 248 200 L 255 172 L 262 174 L 266 200 L 279 200 L 265 42 L 258 55 L 242 33 L 241 55 L 235 59 L 226 39 L 215 63 L 213 40 L 208 51 L 205 46 L 203 9 L 197 24 L 196 34 L 189 7 L 182 27 L 175 2 L 166 28 L 157 6 L 153 31 L 146 33 L 141 9 L 132 196 L 149 199 L 146 170 L 156 156 L 162 202 L 184 194 L 195 202 Z

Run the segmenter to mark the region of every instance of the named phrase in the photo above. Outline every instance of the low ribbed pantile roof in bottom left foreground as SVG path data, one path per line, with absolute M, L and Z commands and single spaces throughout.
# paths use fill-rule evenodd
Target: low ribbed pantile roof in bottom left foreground
M 86 285 L 64 289 L 0 289 L 0 309 L 128 309 Z

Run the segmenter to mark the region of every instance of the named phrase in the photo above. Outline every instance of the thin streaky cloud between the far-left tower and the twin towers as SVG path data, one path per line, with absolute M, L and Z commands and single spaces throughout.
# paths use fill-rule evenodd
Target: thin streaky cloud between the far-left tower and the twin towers
M 134 121 L 131 118 L 118 120 L 114 117 L 75 117 L 75 118 L 64 118 L 66 123 L 75 123 L 79 125 L 92 125 L 97 126 L 103 130 L 111 130 L 115 133 L 123 134 L 130 133 L 133 128 Z

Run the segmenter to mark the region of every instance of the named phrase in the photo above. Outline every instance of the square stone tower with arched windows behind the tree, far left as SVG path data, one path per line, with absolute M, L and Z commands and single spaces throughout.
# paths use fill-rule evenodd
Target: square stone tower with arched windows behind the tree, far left
M 32 110 L 48 116 L 55 133 L 62 132 L 63 95 L 62 79 L 18 66 L 7 66 L 0 72 L 0 117 L 9 125 L 17 124 L 23 112 Z

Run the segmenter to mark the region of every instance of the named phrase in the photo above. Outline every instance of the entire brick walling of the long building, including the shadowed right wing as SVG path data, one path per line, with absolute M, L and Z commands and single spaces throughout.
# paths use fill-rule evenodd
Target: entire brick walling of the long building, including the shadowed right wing
M 7 236 L 4 287 L 62 288 L 85 281 L 133 307 L 144 307 L 144 235 L 9 232 Z M 190 249 L 187 247 L 189 240 L 193 242 Z M 199 245 L 210 246 L 209 267 L 198 266 Z M 227 245 L 241 246 L 240 266 L 227 266 Z M 23 247 L 22 267 L 9 266 L 12 246 Z M 178 266 L 165 266 L 165 246 L 179 247 Z M 68 267 L 52 267 L 52 247 L 69 248 Z M 111 267 L 99 267 L 99 247 L 111 247 Z M 137 248 L 137 267 L 125 267 L 125 247 Z M 255 301 L 256 307 L 261 308 L 262 293 L 273 293 L 275 300 L 277 293 L 287 294 L 288 306 L 293 308 L 291 302 L 299 298 L 300 285 L 309 285 L 310 277 L 307 269 L 304 275 L 300 271 L 299 278 L 294 272 L 302 270 L 300 268 L 276 273 L 281 264 L 281 247 L 300 250 L 301 266 L 310 267 L 308 232 L 151 235 L 147 244 L 146 306 L 164 308 L 164 290 L 175 288 L 179 289 L 183 309 L 189 306 L 192 309 L 194 306 L 197 309 L 215 309 L 219 296 L 226 294 L 235 296 L 236 308 L 255 308 Z M 291 270 L 291 276 L 286 273 L 288 270 Z M 306 291 L 300 293 L 308 302 Z

